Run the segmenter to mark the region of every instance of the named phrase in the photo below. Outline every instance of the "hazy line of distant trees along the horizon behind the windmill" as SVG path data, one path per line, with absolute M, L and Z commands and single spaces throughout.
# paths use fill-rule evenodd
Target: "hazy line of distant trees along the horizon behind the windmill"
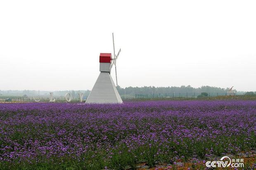
M 122 98 L 135 97 L 136 95 L 147 95 L 152 96 L 198 96 L 202 93 L 208 96 L 225 95 L 229 88 L 211 87 L 211 86 L 201 86 L 198 88 L 191 87 L 190 85 L 182 85 L 180 87 L 154 87 L 154 86 L 144 86 L 144 87 L 116 87 Z M 236 90 L 235 90 L 236 91 Z M 78 98 L 78 93 L 83 93 L 84 97 L 90 94 L 90 90 L 63 90 L 63 91 L 39 91 L 40 97 L 48 97 L 49 92 L 54 92 L 54 96 L 62 97 L 66 93 L 71 93 L 74 98 Z M 256 95 L 256 92 L 237 92 L 238 95 Z M 38 97 L 38 90 L 0 90 L 0 96 L 34 96 Z

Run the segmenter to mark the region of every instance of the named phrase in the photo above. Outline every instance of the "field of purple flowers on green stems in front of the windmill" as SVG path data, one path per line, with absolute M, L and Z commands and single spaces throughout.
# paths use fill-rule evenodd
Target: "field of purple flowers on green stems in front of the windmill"
M 0 169 L 135 169 L 256 148 L 256 101 L 0 104 Z

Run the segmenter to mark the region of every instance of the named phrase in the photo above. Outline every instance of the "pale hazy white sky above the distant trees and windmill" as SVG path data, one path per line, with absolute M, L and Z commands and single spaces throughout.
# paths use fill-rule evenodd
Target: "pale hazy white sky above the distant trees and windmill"
M 121 87 L 256 91 L 256 1 L 242 0 L 2 0 L 0 90 L 91 90 L 112 32 Z

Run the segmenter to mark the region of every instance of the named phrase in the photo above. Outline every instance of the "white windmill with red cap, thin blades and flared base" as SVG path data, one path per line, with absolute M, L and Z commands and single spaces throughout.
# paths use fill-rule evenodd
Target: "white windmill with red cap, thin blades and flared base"
M 123 103 L 117 89 L 117 76 L 116 76 L 116 85 L 110 75 L 111 68 L 113 64 L 115 65 L 116 70 L 116 60 L 121 52 L 115 53 L 115 44 L 114 44 L 114 33 L 113 36 L 113 46 L 114 54 L 111 53 L 100 53 L 100 75 L 96 80 L 95 85 L 92 88 L 87 100 L 85 103 Z

